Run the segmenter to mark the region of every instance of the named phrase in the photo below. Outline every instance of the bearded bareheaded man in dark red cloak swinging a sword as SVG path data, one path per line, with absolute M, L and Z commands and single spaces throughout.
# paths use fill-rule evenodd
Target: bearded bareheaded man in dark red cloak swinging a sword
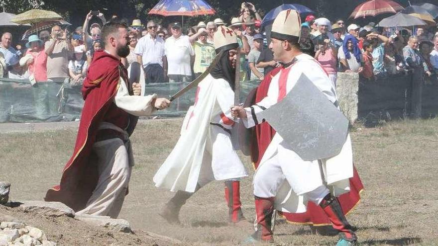
M 129 85 L 120 63 L 129 54 L 126 24 L 105 24 L 101 37 L 105 50 L 95 53 L 84 81 L 85 104 L 73 156 L 60 185 L 49 189 L 45 200 L 63 202 L 76 214 L 116 218 L 134 164 L 129 136 L 137 116 L 150 115 L 170 101 L 156 94 L 139 96 L 140 88 Z

